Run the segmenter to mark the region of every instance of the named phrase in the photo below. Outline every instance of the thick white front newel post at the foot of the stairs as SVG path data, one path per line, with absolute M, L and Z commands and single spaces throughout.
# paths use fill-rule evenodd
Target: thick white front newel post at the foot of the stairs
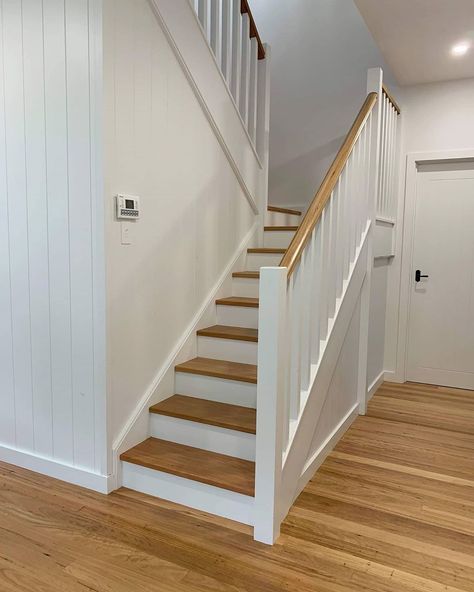
M 254 538 L 280 533 L 287 269 L 260 270 Z

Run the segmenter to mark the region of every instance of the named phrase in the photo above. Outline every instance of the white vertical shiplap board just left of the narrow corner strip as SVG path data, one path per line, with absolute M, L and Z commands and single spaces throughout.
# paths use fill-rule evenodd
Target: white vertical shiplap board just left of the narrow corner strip
M 94 468 L 94 376 L 87 0 L 66 0 L 74 464 Z

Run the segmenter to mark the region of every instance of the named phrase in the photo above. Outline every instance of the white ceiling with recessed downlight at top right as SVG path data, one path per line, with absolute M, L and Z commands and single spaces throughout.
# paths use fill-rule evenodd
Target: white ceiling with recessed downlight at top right
M 474 77 L 474 0 L 354 1 L 401 85 Z

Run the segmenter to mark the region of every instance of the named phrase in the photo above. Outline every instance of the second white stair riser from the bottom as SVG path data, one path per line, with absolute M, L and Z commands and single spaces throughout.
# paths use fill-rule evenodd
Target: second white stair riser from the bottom
M 255 460 L 255 436 L 217 426 L 150 413 L 150 431 L 154 438 L 201 448 L 210 452 Z

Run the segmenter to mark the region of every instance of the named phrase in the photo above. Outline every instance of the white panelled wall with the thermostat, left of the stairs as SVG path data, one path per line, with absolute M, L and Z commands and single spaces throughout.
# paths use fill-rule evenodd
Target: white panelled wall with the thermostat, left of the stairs
M 115 440 L 256 217 L 150 3 L 107 0 L 105 6 L 108 388 Z M 224 85 L 220 75 L 218 82 Z M 261 174 L 256 159 L 253 170 Z M 129 246 L 121 245 L 114 218 L 118 192 L 141 197 L 142 218 Z M 172 385 L 165 394 L 171 391 Z

